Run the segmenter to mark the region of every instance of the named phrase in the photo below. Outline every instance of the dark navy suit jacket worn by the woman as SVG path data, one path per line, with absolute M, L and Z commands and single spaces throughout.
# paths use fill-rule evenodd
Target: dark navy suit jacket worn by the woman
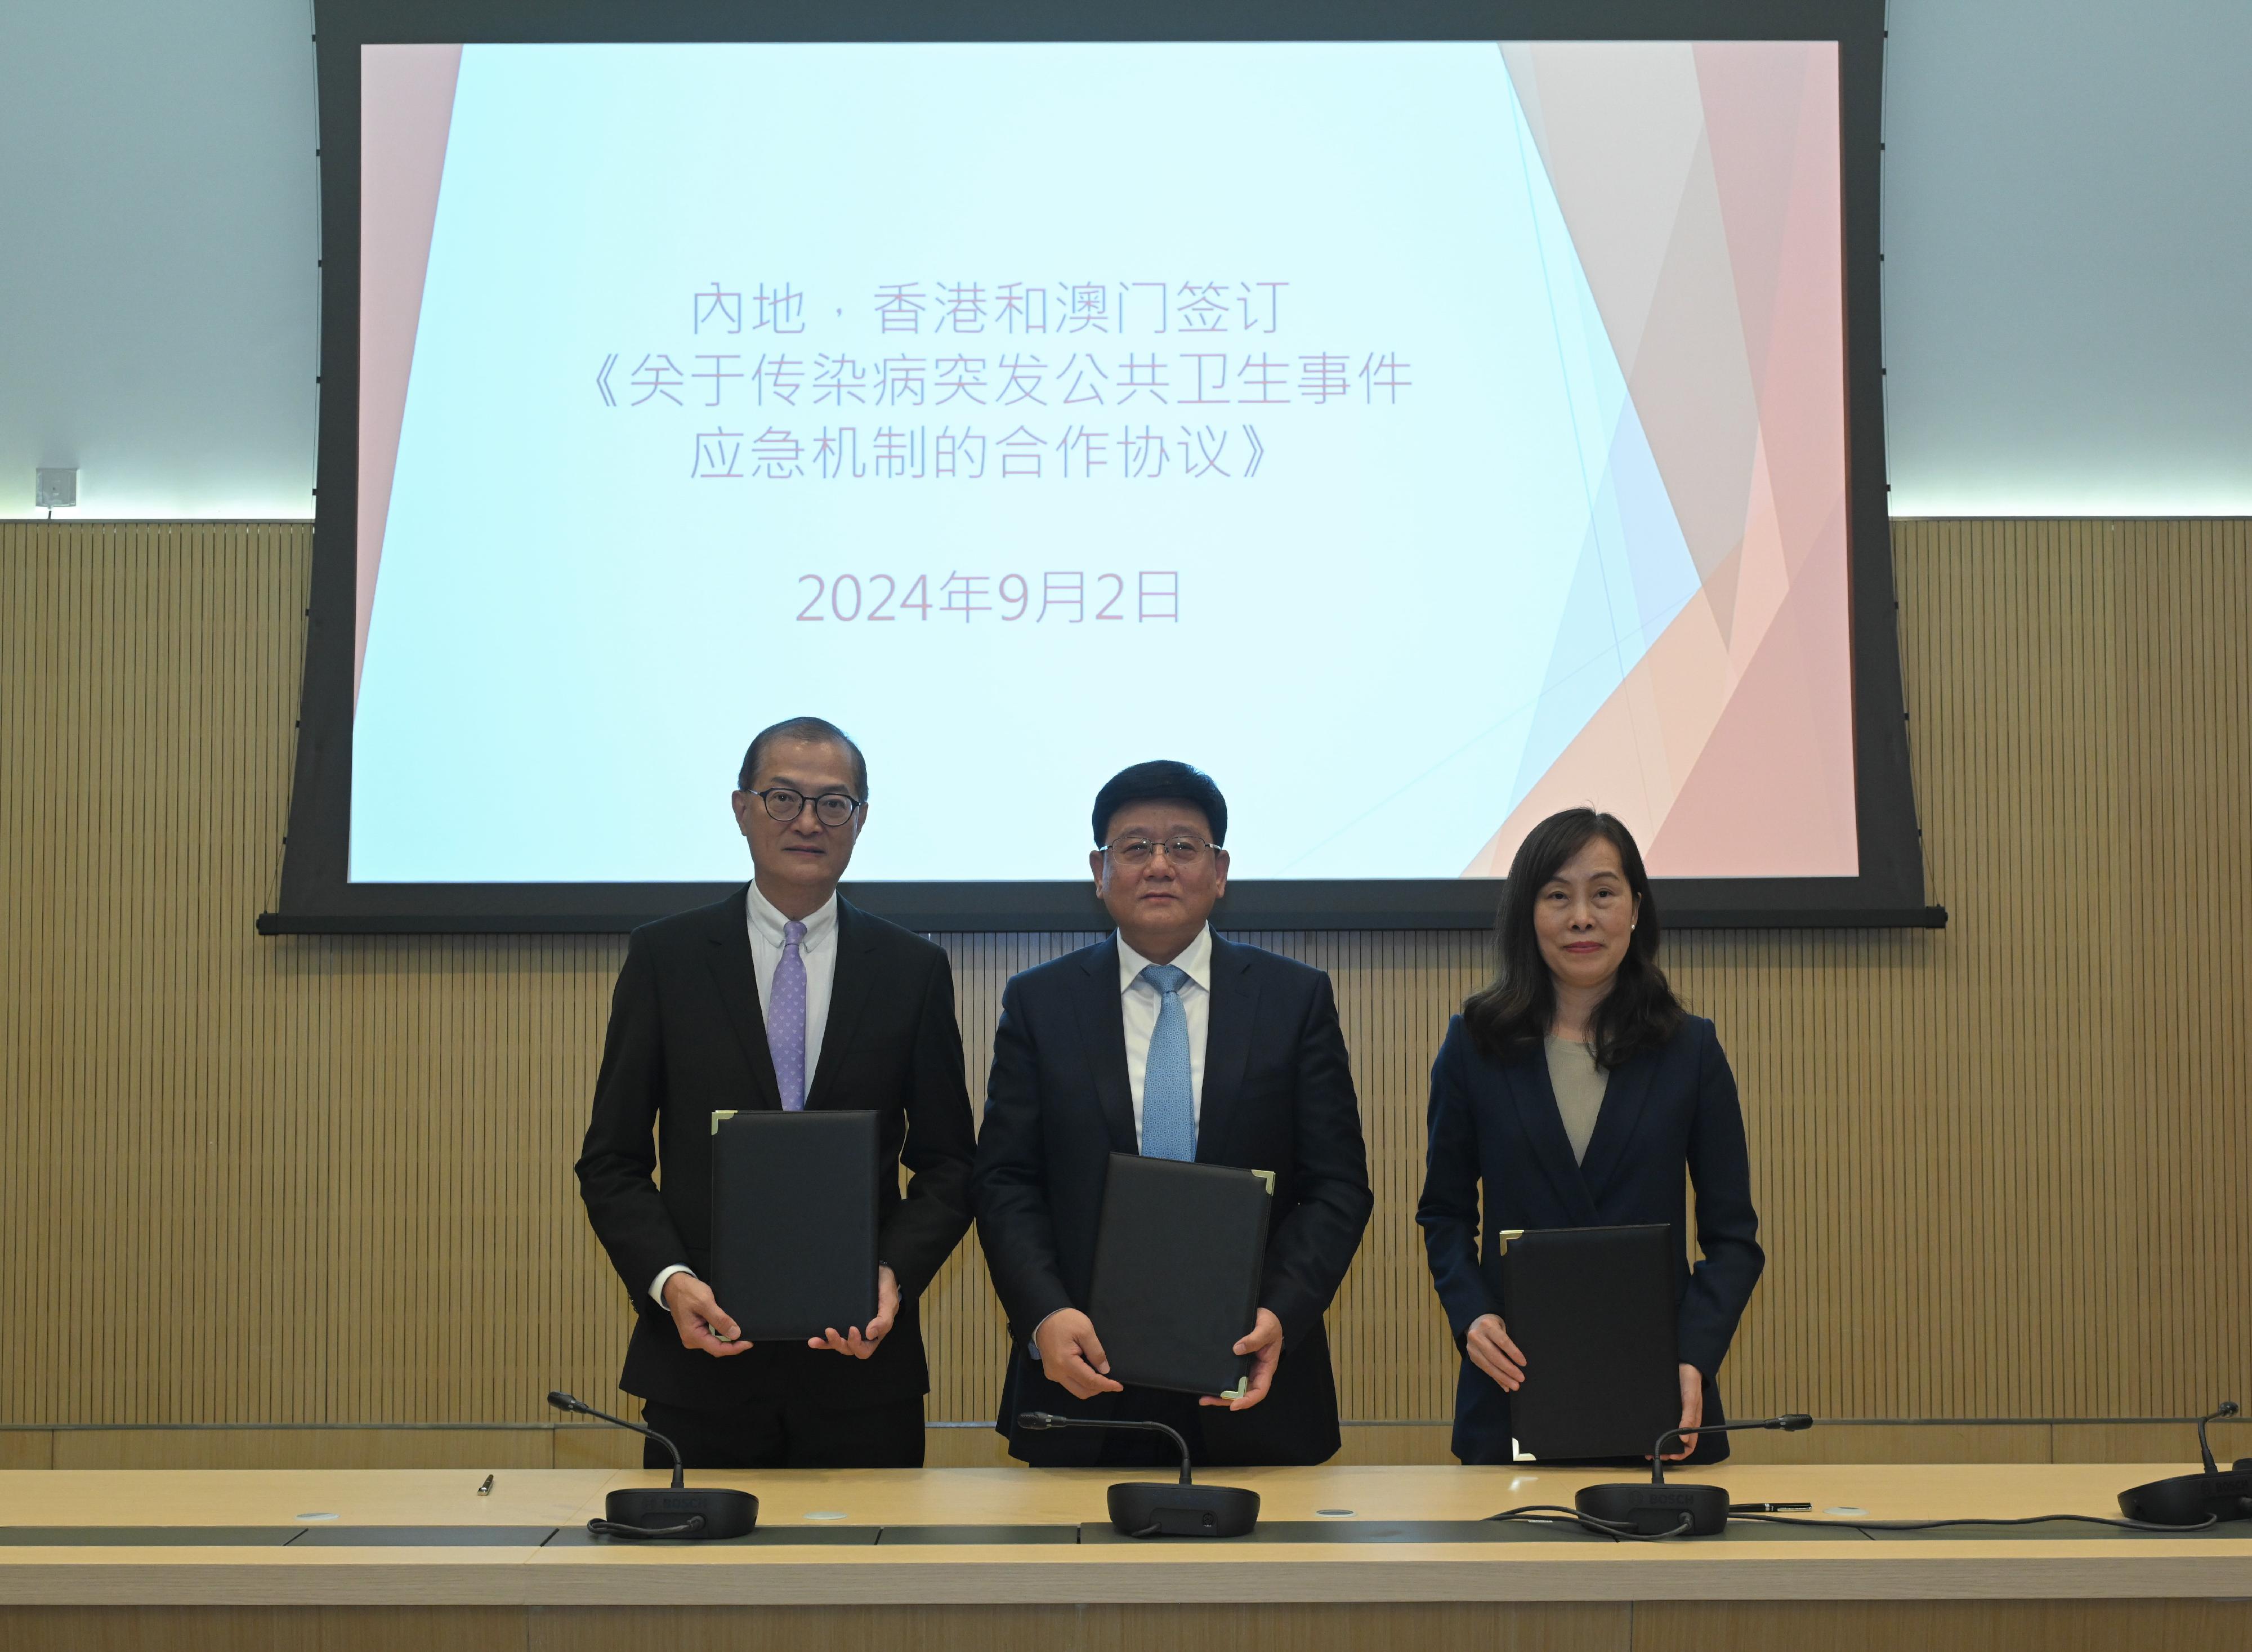
M 1696 1236 L 1705 1251 L 1694 1269 L 1684 1166 L 1696 1179 Z M 1502 1312 L 1489 1272 L 1498 1231 L 1666 1222 L 1680 1267 L 1680 1359 L 1705 1373 L 1705 1420 L 1727 1420 L 1714 1377 L 1766 1256 L 1736 1078 L 1712 1022 L 1687 1017 L 1662 1049 L 1610 1074 L 1588 1159 L 1574 1164 L 1547 1053 L 1531 1047 L 1507 1062 L 1489 1060 L 1457 1015 L 1430 1069 L 1430 1152 L 1417 1222 L 1457 1346 L 1471 1321 Z M 1538 1359 L 1538 1353 L 1527 1348 L 1525 1357 Z M 1455 1384 L 1455 1456 L 1507 1463 L 1509 1440 L 1509 1395 L 1464 1357 Z M 1727 1436 L 1705 1434 L 1689 1461 L 1723 1456 Z

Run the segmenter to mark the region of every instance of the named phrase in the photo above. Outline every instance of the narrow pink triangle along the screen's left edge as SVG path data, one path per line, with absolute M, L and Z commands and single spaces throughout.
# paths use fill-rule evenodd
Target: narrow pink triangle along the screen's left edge
M 399 425 L 414 369 L 430 230 L 446 176 L 457 45 L 360 47 L 360 511 L 351 702 L 360 700 L 367 623 L 376 610 L 383 524 L 392 511 Z

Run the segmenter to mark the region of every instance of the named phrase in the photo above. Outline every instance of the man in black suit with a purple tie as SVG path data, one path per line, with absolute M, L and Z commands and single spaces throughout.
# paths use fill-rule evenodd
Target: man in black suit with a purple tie
M 617 1386 L 694 1467 L 921 1467 L 930 1373 L 914 1303 L 971 1224 L 953 970 L 930 941 L 835 894 L 867 821 L 867 763 L 842 729 L 777 722 L 750 743 L 739 788 L 754 878 L 635 930 L 610 1002 L 579 1193 L 637 1314 Z M 867 1326 L 752 1346 L 698 1278 L 712 1112 L 725 1107 L 881 1114 Z M 651 1445 L 644 1461 L 671 1458 Z

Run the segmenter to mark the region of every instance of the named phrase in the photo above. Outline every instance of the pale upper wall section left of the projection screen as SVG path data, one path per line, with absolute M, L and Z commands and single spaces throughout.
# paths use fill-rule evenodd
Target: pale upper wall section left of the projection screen
M 0 515 L 313 513 L 309 0 L 0 0 Z

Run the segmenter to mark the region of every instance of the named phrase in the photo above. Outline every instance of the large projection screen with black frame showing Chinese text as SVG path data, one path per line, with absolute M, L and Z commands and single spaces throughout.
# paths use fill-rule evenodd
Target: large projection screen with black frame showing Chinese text
M 926 930 L 1088 927 L 1088 801 L 1151 756 L 1227 792 L 1239 927 L 1491 923 L 1574 803 L 1675 923 L 1934 921 L 1880 7 L 1579 11 L 320 7 L 261 923 L 712 898 L 797 713 L 867 752 L 854 898 Z

